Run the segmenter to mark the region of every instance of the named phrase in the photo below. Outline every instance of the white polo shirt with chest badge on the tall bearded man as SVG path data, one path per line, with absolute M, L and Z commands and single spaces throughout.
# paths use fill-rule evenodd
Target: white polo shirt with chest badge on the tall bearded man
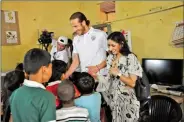
M 87 66 L 96 66 L 106 60 L 107 34 L 101 30 L 90 28 L 84 35 L 75 36 L 73 53 L 79 55 L 81 72 L 87 72 Z M 106 68 L 99 72 L 106 74 Z

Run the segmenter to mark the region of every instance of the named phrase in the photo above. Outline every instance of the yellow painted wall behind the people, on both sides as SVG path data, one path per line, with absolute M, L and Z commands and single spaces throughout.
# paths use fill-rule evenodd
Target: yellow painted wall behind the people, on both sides
M 125 2 L 116 1 L 116 20 L 148 13 L 150 9 L 163 9 L 181 5 L 182 2 Z M 21 45 L 2 46 L 2 71 L 13 69 L 23 60 L 25 52 L 38 47 L 38 29 L 47 28 L 56 36 L 71 36 L 68 21 L 75 11 L 82 11 L 91 24 L 100 23 L 99 2 L 2 2 L 3 10 L 19 12 Z M 139 59 L 183 58 L 182 48 L 173 48 L 169 41 L 176 21 L 183 20 L 183 8 L 124 21 L 112 22 L 112 30 L 130 30 L 132 46 Z

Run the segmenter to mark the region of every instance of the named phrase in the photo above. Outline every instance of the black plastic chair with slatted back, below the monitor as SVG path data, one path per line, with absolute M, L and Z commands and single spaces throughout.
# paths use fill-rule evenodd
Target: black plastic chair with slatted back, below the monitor
M 170 97 L 154 95 L 149 102 L 151 122 L 179 122 L 182 118 L 180 105 Z

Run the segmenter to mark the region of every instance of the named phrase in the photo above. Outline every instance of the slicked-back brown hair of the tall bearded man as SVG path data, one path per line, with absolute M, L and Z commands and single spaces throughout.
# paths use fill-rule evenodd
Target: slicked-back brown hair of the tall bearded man
M 87 20 L 86 16 L 82 12 L 75 12 L 75 13 L 73 13 L 71 15 L 71 17 L 70 17 L 70 20 L 77 19 L 77 18 L 79 19 L 79 22 L 85 21 L 86 22 L 86 25 L 89 26 L 90 21 Z

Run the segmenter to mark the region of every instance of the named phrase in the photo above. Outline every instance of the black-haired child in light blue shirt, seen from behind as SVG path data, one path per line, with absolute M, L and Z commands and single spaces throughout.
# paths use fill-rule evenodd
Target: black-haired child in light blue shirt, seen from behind
M 94 92 L 95 80 L 82 72 L 76 86 L 82 96 L 75 100 L 75 105 L 88 109 L 91 122 L 100 122 L 101 95 Z

